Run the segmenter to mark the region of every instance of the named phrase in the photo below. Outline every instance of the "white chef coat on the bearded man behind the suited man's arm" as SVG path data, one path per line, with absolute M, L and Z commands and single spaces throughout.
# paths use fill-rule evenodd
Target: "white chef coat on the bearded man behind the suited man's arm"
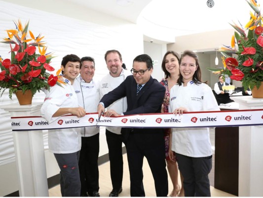
M 100 82 L 100 99 L 102 99 L 105 94 L 108 94 L 118 87 L 129 75 L 131 75 L 131 72 L 122 69 L 118 77 L 113 77 L 110 73 L 104 76 Z M 125 112 L 127 110 L 126 97 L 116 100 L 107 108 L 113 109 L 119 114 Z M 120 134 L 121 127 L 106 127 L 106 129 L 112 133 Z

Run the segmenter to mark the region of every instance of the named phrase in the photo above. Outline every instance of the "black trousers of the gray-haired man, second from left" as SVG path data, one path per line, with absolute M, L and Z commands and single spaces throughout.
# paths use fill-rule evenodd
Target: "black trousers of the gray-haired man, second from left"
M 81 196 L 99 191 L 98 157 L 100 151 L 99 133 L 91 137 L 81 137 L 79 156 L 79 175 L 81 182 Z

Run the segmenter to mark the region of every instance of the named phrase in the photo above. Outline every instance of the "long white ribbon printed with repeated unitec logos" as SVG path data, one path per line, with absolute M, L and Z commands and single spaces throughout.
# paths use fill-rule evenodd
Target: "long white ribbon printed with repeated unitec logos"
M 128 128 L 178 128 L 178 127 L 225 127 L 263 125 L 263 109 L 187 112 L 183 115 L 172 113 L 150 113 L 119 117 L 103 117 L 98 113 L 86 113 L 58 117 L 48 123 L 42 117 L 11 117 L 13 131 L 63 129 L 87 126 L 115 126 Z

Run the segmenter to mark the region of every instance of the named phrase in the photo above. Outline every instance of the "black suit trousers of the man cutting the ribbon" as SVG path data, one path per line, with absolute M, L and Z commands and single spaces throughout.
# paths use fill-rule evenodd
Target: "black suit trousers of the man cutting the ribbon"
M 143 133 L 143 132 L 142 132 Z M 163 144 L 151 145 L 142 141 L 140 134 L 129 135 L 126 142 L 127 158 L 130 171 L 131 197 L 145 197 L 143 184 L 143 160 L 147 158 L 154 179 L 157 197 L 167 197 L 168 176 L 165 162 L 165 145 L 163 134 L 160 134 Z

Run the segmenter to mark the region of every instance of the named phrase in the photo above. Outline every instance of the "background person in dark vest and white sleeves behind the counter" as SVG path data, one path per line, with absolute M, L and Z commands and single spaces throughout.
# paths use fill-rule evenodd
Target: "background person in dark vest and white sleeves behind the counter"
M 214 91 L 217 94 L 216 99 L 217 99 L 218 105 L 220 105 L 221 103 L 226 104 L 229 102 L 233 102 L 234 100 L 229 98 L 229 94 L 225 93 L 222 89 L 223 86 L 229 85 L 229 84 L 225 83 L 223 79 L 223 75 L 220 75 L 218 79 L 219 79 L 219 82 L 217 82 L 214 86 Z

